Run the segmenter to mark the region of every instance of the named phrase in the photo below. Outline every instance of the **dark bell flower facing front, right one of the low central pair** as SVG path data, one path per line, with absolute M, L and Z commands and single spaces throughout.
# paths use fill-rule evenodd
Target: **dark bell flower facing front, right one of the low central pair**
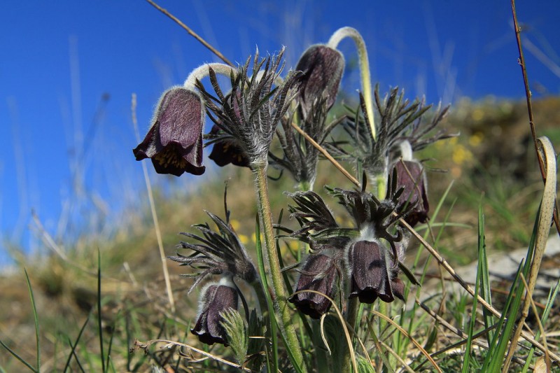
M 357 241 L 349 248 L 350 295 L 362 303 L 373 303 L 378 297 L 393 302 L 404 299 L 404 284 L 396 278 L 398 269 L 385 246 L 378 241 Z M 399 258 L 400 260 L 400 258 Z

